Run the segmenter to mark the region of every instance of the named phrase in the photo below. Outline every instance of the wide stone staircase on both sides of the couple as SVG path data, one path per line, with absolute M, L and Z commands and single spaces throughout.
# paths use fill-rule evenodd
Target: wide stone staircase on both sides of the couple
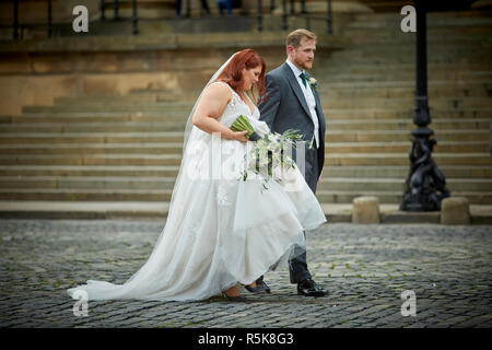
M 324 205 L 362 195 L 401 201 L 414 128 L 415 35 L 399 31 L 400 19 L 356 16 L 343 33 L 350 45 L 315 63 L 327 118 L 317 191 Z M 427 18 L 430 128 L 438 139 L 433 156 L 453 196 L 484 206 L 492 205 L 491 24 L 487 13 Z M 196 89 L 58 97 L 52 106 L 0 117 L 0 201 L 36 203 L 40 211 L 50 203 L 74 211 L 121 203 L 120 214 L 165 214 L 184 122 L 201 82 Z

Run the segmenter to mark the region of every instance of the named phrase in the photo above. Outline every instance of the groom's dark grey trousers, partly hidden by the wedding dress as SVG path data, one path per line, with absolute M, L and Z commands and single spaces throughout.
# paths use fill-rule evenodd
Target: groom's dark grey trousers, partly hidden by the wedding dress
M 307 185 L 316 194 L 316 185 L 319 178 L 318 171 L 318 152 L 321 150 L 316 149 L 316 141 L 314 141 L 313 149 L 306 149 L 305 156 L 305 175 Z M 304 232 L 304 237 L 306 233 Z M 307 269 L 306 252 L 301 253 L 301 249 L 296 247 L 294 250 L 295 258 L 289 261 L 289 272 L 291 277 L 291 283 L 300 283 L 308 278 L 312 278 L 309 270 Z

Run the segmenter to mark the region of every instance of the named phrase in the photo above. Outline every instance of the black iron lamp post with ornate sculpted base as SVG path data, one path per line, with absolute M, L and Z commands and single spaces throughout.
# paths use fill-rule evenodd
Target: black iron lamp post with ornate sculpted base
M 410 172 L 408 174 L 400 205 L 403 211 L 441 210 L 441 201 L 449 197 L 446 178 L 432 159 L 432 150 L 437 143 L 430 139 L 434 131 L 427 128 L 431 122 L 427 98 L 427 57 L 426 57 L 426 9 L 424 0 L 415 0 L 417 10 L 417 91 L 410 149 Z

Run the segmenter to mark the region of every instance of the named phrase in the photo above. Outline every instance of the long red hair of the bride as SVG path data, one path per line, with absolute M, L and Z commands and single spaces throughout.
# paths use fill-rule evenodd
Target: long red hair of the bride
M 261 66 L 261 73 L 258 77 L 258 83 L 256 84 L 259 98 L 261 101 L 267 100 L 267 92 L 265 90 L 265 71 L 267 66 L 265 65 L 265 60 L 259 56 L 253 48 L 246 48 L 239 52 L 237 52 L 225 66 L 224 70 L 218 77 L 216 80 L 226 82 L 235 92 L 239 93 L 241 86 L 243 86 L 243 68 L 254 69 L 256 67 Z

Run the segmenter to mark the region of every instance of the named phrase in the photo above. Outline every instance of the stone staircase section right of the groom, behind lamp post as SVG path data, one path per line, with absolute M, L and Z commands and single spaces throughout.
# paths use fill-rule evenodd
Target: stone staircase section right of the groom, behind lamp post
M 415 34 L 400 32 L 400 19 L 359 15 L 344 31 L 352 47 L 317 71 L 328 119 L 321 198 L 401 201 L 415 128 Z M 491 23 L 475 13 L 427 15 L 430 128 L 438 139 L 433 156 L 453 196 L 476 205 L 492 203 Z

